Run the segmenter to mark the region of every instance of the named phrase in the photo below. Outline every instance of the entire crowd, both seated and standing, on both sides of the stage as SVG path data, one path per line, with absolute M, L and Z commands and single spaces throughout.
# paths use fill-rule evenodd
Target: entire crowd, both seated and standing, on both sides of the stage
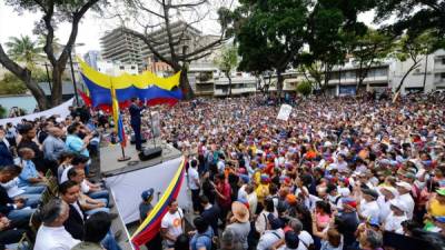
M 390 94 L 388 94 L 390 96 Z M 445 96 L 293 99 L 288 120 L 265 96 L 155 107 L 161 138 L 187 159 L 190 224 L 168 202 L 148 249 L 379 250 L 445 246 Z M 0 128 L 0 249 L 120 249 L 109 193 L 91 159 L 112 121 L 66 119 Z M 127 134 L 135 122 L 123 111 Z M 148 112 L 140 121 L 149 139 Z M 139 126 L 139 124 L 138 124 Z M 103 132 L 103 133 L 102 133 Z M 55 182 L 55 183 L 52 183 Z M 57 197 L 47 200 L 57 188 Z M 155 203 L 141 193 L 141 221 Z M 38 220 L 30 228 L 28 221 Z M 33 233 L 33 230 L 37 230 Z

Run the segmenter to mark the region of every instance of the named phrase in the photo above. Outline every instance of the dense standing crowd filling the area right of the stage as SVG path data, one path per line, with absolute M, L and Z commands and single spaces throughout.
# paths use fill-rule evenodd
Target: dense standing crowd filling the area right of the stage
M 157 108 L 188 159 L 196 230 L 170 201 L 147 247 L 442 249 L 445 96 L 382 97 L 297 99 L 287 121 L 263 96 Z

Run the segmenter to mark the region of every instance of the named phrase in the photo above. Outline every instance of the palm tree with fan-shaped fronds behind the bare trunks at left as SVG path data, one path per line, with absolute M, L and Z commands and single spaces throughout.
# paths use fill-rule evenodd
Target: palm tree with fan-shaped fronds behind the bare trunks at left
M 36 61 L 41 58 L 41 47 L 28 36 L 10 37 L 6 46 L 8 56 L 14 61 L 24 62 L 31 71 L 36 68 Z

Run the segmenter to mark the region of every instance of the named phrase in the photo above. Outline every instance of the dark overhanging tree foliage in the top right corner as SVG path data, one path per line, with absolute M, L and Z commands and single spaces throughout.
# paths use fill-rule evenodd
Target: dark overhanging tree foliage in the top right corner
M 376 0 L 375 22 L 384 23 L 390 17 L 397 17 L 394 23 L 388 24 L 395 34 L 406 32 L 409 37 L 418 37 L 425 31 L 433 37 L 445 36 L 445 1 L 443 0 Z M 435 47 L 444 44 L 435 44 Z

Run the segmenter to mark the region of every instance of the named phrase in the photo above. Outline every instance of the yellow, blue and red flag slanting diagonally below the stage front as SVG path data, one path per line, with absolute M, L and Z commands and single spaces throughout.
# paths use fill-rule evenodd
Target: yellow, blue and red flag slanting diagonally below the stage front
M 167 190 L 164 192 L 162 197 L 155 206 L 155 208 L 150 211 L 146 220 L 132 234 L 131 242 L 134 243 L 136 249 L 139 250 L 139 246 L 142 246 L 146 242 L 150 241 L 156 236 L 156 233 L 159 232 L 160 222 L 168 211 L 169 201 L 178 197 L 184 180 L 184 172 L 185 160 L 182 159 L 178 170 L 171 179 L 170 184 L 167 187 Z

